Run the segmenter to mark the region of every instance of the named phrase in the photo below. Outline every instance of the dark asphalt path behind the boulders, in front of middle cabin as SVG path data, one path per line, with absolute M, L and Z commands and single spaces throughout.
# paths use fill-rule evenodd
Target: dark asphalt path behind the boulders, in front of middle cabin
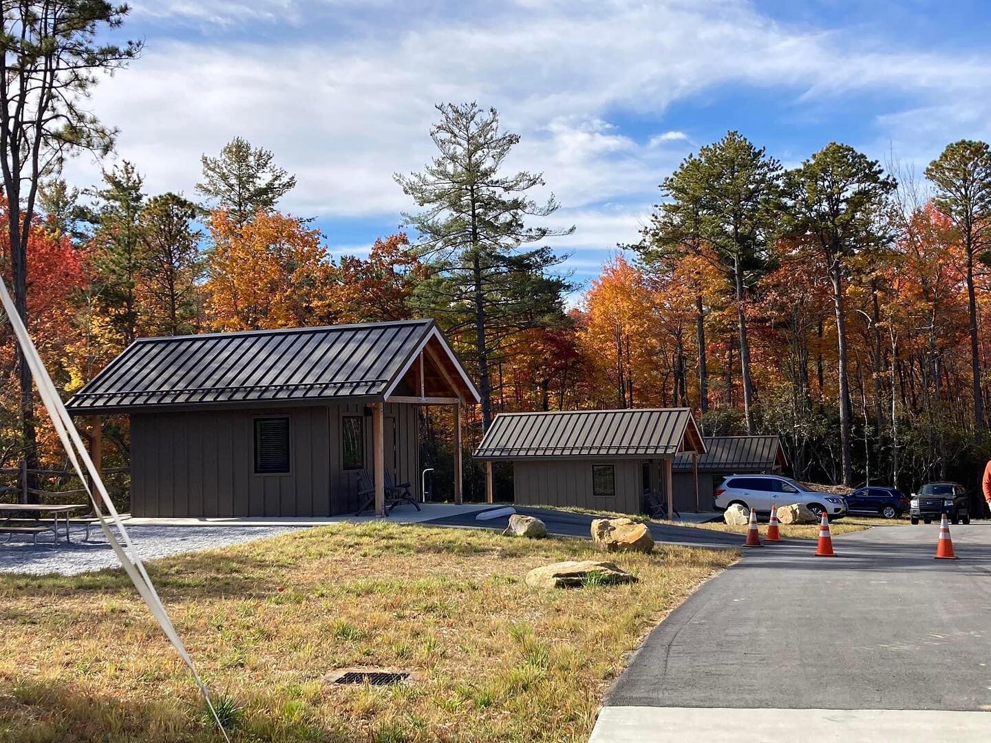
M 592 536 L 592 521 L 599 516 L 589 516 L 584 513 L 558 511 L 553 508 L 527 508 L 513 506 L 516 513 L 526 516 L 536 516 L 547 526 L 551 534 L 562 537 Z M 424 522 L 429 526 L 457 526 L 461 528 L 474 527 L 480 529 L 497 529 L 502 531 L 509 524 L 509 516 L 479 521 L 477 513 L 457 514 L 446 518 L 433 519 Z M 691 526 L 668 526 L 667 524 L 648 524 L 655 542 L 662 544 L 678 544 L 690 547 L 710 547 L 714 549 L 736 548 L 743 543 L 743 537 L 729 532 L 699 529 Z

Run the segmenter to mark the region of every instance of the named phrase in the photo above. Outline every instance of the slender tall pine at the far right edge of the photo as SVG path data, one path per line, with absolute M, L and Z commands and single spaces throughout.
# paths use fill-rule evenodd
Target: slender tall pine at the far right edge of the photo
M 949 217 L 963 242 L 970 315 L 970 369 L 973 377 L 974 423 L 978 437 L 985 429 L 981 394 L 981 358 L 977 338 L 974 259 L 991 247 L 991 151 L 984 142 L 961 140 L 947 145 L 926 168 L 936 186 L 936 208 Z

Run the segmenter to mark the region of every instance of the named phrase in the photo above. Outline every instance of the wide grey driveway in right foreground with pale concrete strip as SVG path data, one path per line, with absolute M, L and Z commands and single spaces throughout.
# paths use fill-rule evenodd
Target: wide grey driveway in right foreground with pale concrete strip
M 650 634 L 593 741 L 988 739 L 991 524 L 953 527 L 955 562 L 937 529 L 745 553 Z

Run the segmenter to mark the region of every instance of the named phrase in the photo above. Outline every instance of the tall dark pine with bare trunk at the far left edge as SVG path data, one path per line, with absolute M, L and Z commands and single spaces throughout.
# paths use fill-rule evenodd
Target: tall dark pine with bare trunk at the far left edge
M 107 153 L 114 132 L 103 127 L 82 102 L 100 73 L 123 67 L 141 53 L 141 43 L 124 46 L 97 41 L 103 29 L 118 28 L 127 5 L 103 0 L 5 2 L 0 35 L 0 169 L 7 199 L 14 304 L 28 317 L 28 241 L 42 179 L 80 151 Z M 21 438 L 25 462 L 38 468 L 38 436 L 31 371 L 17 349 Z M 29 485 L 35 478 L 29 478 Z M 27 493 L 23 494 L 27 497 Z

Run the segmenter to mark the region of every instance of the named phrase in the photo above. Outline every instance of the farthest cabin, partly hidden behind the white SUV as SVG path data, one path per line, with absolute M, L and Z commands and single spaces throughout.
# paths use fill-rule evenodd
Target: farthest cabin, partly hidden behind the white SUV
M 674 461 L 675 508 L 679 511 L 711 511 L 716 487 L 730 475 L 780 475 L 788 466 L 777 436 L 710 436 L 706 453 L 698 458 L 694 474 L 692 458 Z

